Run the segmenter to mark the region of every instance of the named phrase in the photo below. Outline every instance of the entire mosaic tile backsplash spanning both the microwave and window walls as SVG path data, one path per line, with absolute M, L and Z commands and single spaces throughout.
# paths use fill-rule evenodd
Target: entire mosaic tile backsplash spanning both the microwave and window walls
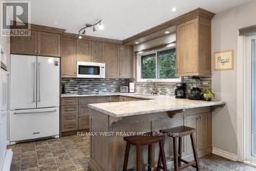
M 186 94 L 192 89 L 192 83 L 195 79 L 192 77 L 183 77 L 186 83 Z M 120 86 L 129 86 L 129 82 L 134 79 L 106 78 L 106 79 L 88 79 L 88 78 L 61 78 L 61 83 L 65 83 L 67 94 L 99 94 L 99 93 L 117 93 L 120 92 Z M 198 81 L 201 89 L 211 89 L 211 77 L 201 77 Z M 151 82 L 135 82 L 136 93 L 150 93 Z M 174 82 L 154 82 L 153 92 L 155 94 L 174 95 L 176 85 Z

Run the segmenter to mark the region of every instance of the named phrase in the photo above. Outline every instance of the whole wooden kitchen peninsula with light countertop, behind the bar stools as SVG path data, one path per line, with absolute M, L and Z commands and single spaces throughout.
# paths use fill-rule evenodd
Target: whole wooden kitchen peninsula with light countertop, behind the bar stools
M 195 127 L 199 157 L 211 153 L 211 110 L 224 105 L 222 101 L 195 101 L 188 99 L 157 98 L 137 101 L 88 104 L 90 131 L 90 163 L 92 170 L 122 170 L 124 136 L 159 131 L 180 125 Z M 166 137 L 167 166 L 172 164 L 172 143 Z M 191 157 L 190 141 L 184 138 L 183 156 Z M 153 145 L 153 163 L 156 166 L 159 148 Z M 147 163 L 147 147 L 143 148 L 142 163 Z M 136 154 L 132 146 L 128 168 L 135 168 Z

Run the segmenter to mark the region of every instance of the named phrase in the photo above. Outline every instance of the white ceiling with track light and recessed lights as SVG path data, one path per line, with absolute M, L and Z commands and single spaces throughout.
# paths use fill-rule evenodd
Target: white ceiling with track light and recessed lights
M 29 0 L 33 24 L 77 33 L 86 23 L 103 20 L 104 30 L 87 35 L 125 39 L 181 14 L 203 8 L 214 13 L 251 0 Z M 172 12 L 176 7 L 177 11 Z

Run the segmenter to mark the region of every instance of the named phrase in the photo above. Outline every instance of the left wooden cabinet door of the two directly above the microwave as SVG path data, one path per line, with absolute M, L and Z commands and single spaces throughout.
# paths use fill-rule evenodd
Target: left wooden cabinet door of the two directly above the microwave
M 92 60 L 91 42 L 85 40 L 76 41 L 76 60 L 88 62 Z

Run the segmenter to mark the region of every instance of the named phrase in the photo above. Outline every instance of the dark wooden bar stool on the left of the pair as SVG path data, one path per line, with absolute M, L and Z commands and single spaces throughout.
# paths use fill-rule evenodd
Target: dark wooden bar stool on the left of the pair
M 152 170 L 152 144 L 159 143 L 159 159 L 158 166 L 164 171 L 167 171 L 165 154 L 164 154 L 164 136 L 153 136 L 152 133 L 147 133 L 145 136 L 128 136 L 123 138 L 126 141 L 125 157 L 123 163 L 123 171 L 127 170 L 127 164 L 129 159 L 130 145 L 136 146 L 136 168 L 137 171 L 141 171 L 141 146 L 148 145 L 148 165 L 147 170 Z M 161 156 L 161 157 L 160 157 Z M 161 158 L 161 159 L 160 159 Z M 161 166 L 161 161 L 162 166 Z

